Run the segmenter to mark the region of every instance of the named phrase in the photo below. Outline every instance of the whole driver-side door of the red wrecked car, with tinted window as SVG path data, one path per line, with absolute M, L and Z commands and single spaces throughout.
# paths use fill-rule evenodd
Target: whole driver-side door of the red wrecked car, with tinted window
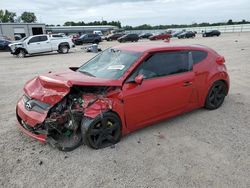
M 132 80 L 143 75 L 141 85 Z M 185 110 L 194 89 L 192 57 L 187 51 L 152 54 L 123 86 L 126 123 L 132 130 Z

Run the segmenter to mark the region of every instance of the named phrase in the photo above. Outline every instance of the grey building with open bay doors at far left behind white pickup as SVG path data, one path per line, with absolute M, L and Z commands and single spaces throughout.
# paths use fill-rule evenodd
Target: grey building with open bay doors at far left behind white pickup
M 0 38 L 20 40 L 23 37 L 43 33 L 45 33 L 45 24 L 43 23 L 0 23 Z

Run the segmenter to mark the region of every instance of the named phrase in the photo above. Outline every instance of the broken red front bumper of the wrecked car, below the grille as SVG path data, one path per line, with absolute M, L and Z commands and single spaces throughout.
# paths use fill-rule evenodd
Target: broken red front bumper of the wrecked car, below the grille
M 38 124 L 41 124 L 47 116 L 47 113 L 40 114 L 35 111 L 28 111 L 24 106 L 22 98 L 18 101 L 16 107 L 17 125 L 21 131 L 31 138 L 34 138 L 41 143 L 46 143 L 47 135 L 37 134 L 32 130 Z

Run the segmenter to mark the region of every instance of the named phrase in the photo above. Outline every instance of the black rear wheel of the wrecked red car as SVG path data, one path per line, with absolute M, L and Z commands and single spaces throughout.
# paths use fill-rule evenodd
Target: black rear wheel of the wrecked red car
M 219 108 L 224 102 L 226 94 L 226 84 L 223 81 L 216 81 L 208 92 L 205 108 L 209 110 L 215 110 Z

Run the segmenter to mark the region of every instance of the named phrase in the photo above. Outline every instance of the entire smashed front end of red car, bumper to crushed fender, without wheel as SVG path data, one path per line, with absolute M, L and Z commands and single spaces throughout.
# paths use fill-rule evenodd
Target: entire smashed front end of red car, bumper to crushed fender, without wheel
M 65 87 L 57 83 L 57 91 L 52 91 L 51 84 L 40 83 L 43 87 L 36 91 L 31 91 L 30 83 L 24 89 L 25 95 L 17 104 L 19 127 L 28 136 L 63 151 L 71 151 L 83 143 L 84 117 L 95 118 L 112 110 L 110 93 L 119 90 L 115 86 Z

